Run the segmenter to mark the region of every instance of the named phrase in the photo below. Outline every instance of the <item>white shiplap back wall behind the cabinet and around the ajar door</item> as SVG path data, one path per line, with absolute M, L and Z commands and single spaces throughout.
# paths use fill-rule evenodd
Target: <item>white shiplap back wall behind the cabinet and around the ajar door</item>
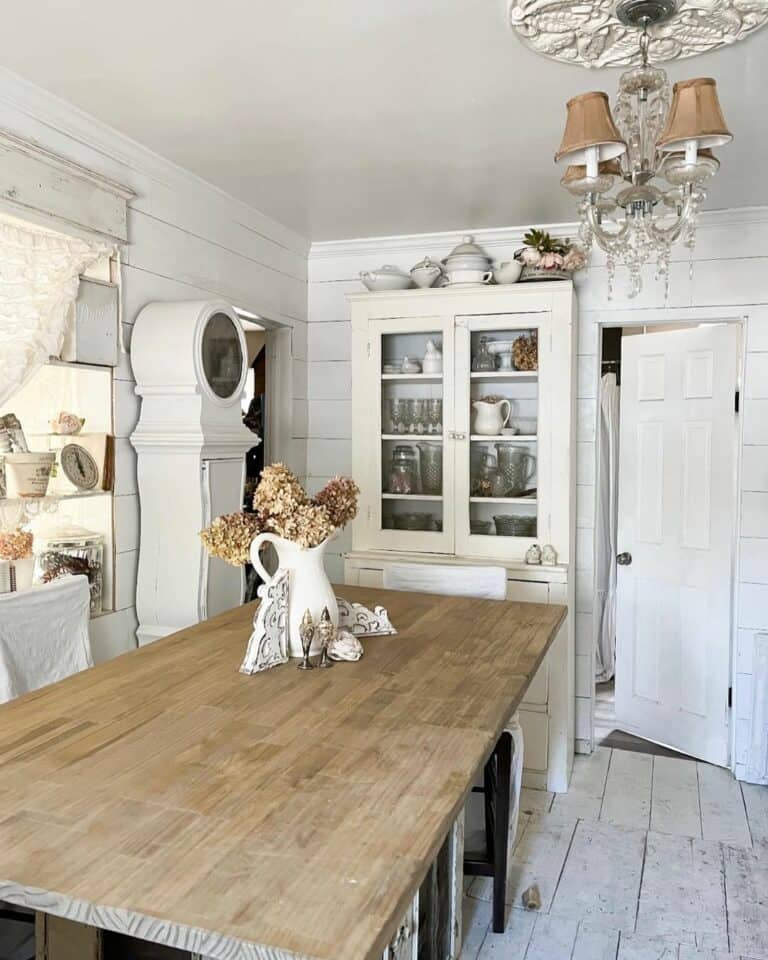
M 572 225 L 552 225 L 558 235 Z M 508 259 L 520 246 L 521 228 L 479 230 L 475 237 L 494 259 Z M 425 254 L 443 257 L 461 234 L 430 234 L 314 244 L 309 260 L 309 483 L 314 488 L 351 470 L 350 326 L 345 294 L 359 291 L 360 270 L 394 263 L 410 268 Z M 595 435 L 599 325 L 670 320 L 746 319 L 737 643 L 734 651 L 734 767 L 747 776 L 753 702 L 752 645 L 768 630 L 768 209 L 704 214 L 693 254 L 675 250 L 669 298 L 646 271 L 643 292 L 626 296 L 620 270 L 607 298 L 604 259 L 593 256 L 577 280 L 579 301 L 576 536 L 576 736 L 590 749 L 594 695 L 593 593 Z M 335 542 L 329 572 L 343 576 L 349 534 Z M 753 761 L 754 762 L 754 761 Z M 751 779 L 755 779 L 754 776 Z

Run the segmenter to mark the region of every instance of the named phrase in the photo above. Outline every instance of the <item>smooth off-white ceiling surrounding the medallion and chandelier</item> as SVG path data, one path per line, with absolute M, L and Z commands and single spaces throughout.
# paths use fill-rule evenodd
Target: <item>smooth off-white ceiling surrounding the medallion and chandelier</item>
M 4 0 L 0 64 L 312 240 L 573 219 L 552 164 L 574 93 L 504 0 Z M 709 208 L 768 203 L 768 30 L 711 75 L 733 144 Z M 759 161 L 759 162 L 758 162 Z

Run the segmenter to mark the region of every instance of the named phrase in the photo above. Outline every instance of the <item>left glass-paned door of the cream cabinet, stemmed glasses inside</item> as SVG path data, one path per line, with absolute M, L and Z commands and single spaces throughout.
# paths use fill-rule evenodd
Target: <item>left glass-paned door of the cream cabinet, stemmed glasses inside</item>
M 372 321 L 379 409 L 356 411 L 378 430 L 371 518 L 382 547 L 453 550 L 453 331 L 442 317 Z M 447 423 L 446 423 L 447 419 Z

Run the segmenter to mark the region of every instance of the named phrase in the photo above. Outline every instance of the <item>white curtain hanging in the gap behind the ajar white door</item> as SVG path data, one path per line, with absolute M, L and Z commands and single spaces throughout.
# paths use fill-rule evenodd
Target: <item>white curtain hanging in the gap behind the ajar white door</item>
M 597 650 L 595 679 L 613 678 L 616 669 L 616 541 L 619 523 L 619 387 L 615 373 L 600 384 L 600 447 L 597 482 Z

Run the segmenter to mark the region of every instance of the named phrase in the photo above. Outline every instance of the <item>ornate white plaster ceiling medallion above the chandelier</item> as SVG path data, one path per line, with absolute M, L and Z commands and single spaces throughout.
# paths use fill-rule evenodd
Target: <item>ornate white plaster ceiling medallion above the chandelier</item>
M 659 7 L 665 6 L 659 0 Z M 768 22 L 768 0 L 680 0 L 649 30 L 651 61 L 709 53 Z M 636 66 L 637 23 L 622 22 L 616 0 L 509 0 L 509 22 L 536 53 L 585 67 Z

